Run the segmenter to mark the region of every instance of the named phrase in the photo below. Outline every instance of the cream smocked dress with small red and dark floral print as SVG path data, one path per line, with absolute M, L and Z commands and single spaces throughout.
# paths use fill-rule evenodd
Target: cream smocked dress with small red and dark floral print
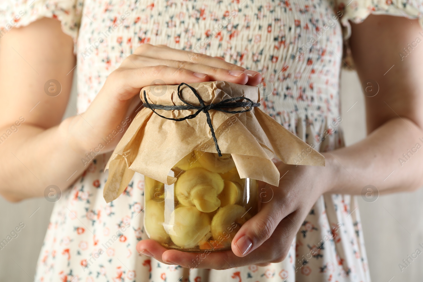
M 323 152 L 344 145 L 339 76 L 348 21 L 371 13 L 420 18 L 422 11 L 417 1 L 399 0 L 5 0 L 0 36 L 42 17 L 58 19 L 74 39 L 78 112 L 140 44 L 224 57 L 260 71 L 261 109 Z M 98 155 L 55 204 L 36 282 L 370 281 L 359 211 L 349 195 L 322 195 L 280 263 L 217 271 L 140 255 L 135 246 L 147 238 L 143 176 L 135 173 L 125 192 L 105 203 L 109 156 Z

